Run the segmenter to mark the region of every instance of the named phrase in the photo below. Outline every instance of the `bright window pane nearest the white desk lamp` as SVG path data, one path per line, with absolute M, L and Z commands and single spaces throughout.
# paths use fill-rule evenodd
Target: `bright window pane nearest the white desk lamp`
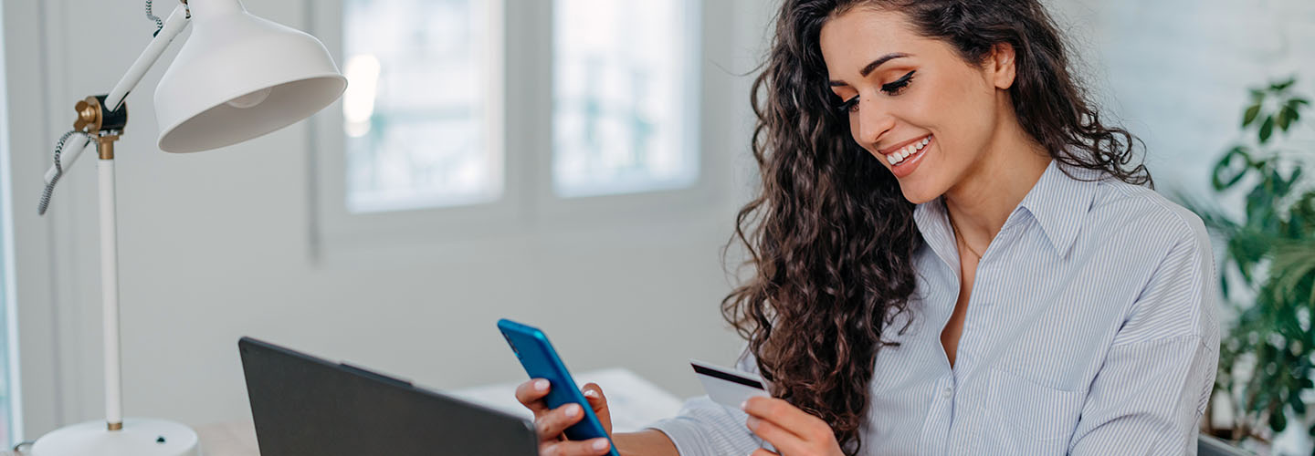
M 485 1 L 345 0 L 347 209 L 496 200 Z

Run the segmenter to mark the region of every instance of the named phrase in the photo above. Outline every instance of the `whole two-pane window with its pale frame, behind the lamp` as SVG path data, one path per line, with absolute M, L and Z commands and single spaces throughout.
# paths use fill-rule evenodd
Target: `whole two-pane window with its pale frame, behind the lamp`
M 735 46 L 760 39 L 730 3 L 308 5 L 348 78 L 313 121 L 312 256 L 685 221 L 732 192 L 706 176 L 747 150 Z

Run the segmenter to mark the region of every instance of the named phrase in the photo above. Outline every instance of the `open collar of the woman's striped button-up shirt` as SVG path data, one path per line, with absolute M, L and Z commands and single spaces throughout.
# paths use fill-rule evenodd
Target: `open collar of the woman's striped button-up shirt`
M 1069 176 L 1064 171 L 1072 173 Z M 1051 160 L 1041 179 L 1032 185 L 1014 212 L 1026 210 L 1041 226 L 1055 251 L 1064 256 L 1077 239 L 1084 216 L 1091 209 L 1095 188 L 1102 171 L 1069 167 L 1059 160 Z M 945 263 L 955 264 L 959 259 L 955 248 L 949 217 L 945 212 L 944 196 L 919 204 L 914 208 L 914 222 L 927 244 Z M 1014 216 L 1011 214 L 1010 218 Z M 1009 222 L 1006 222 L 1009 223 Z

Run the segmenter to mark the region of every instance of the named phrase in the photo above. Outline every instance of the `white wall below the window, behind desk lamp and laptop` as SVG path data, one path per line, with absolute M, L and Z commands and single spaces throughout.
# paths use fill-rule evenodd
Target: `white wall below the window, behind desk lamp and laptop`
M 526 1 L 537 0 L 509 8 Z M 310 3 L 247 8 L 306 28 Z M 4 3 L 26 438 L 103 414 L 93 160 L 66 176 L 47 217 L 32 208 L 72 104 L 108 91 L 149 42 L 142 4 Z M 715 210 L 625 230 L 535 230 L 452 255 L 320 259 L 308 122 L 222 151 L 160 152 L 151 96 L 163 68 L 153 70 L 128 97 L 117 147 L 126 413 L 249 419 L 242 335 L 441 389 L 517 380 L 500 317 L 544 327 L 573 369 L 621 365 L 698 393 L 685 360 L 730 363 L 740 347 L 718 313 L 730 289 L 719 251 L 751 164 L 748 78 L 735 74 L 752 68 L 771 8 L 714 4 L 731 21 L 704 29 L 734 50 L 704 62 L 705 114 L 717 116 L 705 118 L 702 145 L 727 163 L 706 176 L 726 183 Z

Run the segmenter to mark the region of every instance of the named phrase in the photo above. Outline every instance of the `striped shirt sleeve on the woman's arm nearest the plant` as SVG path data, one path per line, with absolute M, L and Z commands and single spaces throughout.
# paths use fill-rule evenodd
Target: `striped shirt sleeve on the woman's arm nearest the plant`
M 1203 226 L 1174 244 L 1088 393 L 1070 455 L 1195 455 L 1219 361 L 1214 254 Z

